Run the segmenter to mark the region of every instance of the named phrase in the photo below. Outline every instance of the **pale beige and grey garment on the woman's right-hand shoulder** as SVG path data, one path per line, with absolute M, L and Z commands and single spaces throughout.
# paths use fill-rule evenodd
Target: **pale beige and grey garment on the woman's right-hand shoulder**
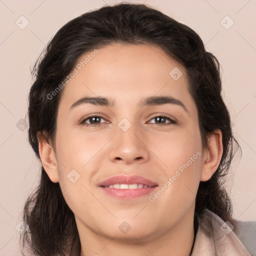
M 246 234 L 249 239 L 243 244 L 240 239 L 247 229 L 242 221 L 237 222 L 238 232 L 234 233 L 228 221 L 224 222 L 209 210 L 197 220 L 198 229 L 191 256 L 255 256 L 256 229 L 251 228 L 250 233 Z

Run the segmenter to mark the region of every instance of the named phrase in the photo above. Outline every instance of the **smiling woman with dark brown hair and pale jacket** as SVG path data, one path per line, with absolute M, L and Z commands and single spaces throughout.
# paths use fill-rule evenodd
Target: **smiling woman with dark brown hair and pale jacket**
M 34 67 L 27 199 L 33 255 L 250 255 L 221 185 L 239 145 L 219 63 L 143 4 L 65 24 Z

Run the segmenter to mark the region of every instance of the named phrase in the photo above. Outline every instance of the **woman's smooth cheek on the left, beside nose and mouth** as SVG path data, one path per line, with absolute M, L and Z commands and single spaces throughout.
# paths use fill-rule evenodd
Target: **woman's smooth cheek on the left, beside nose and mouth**
M 85 134 L 75 134 L 64 129 L 57 134 L 56 155 L 63 197 L 75 215 L 86 215 L 86 219 L 92 221 L 95 213 L 90 209 L 97 208 L 98 205 L 90 192 L 90 181 L 97 170 L 95 159 L 98 154 L 96 153 L 103 146 L 104 141 L 92 140 L 85 137 Z

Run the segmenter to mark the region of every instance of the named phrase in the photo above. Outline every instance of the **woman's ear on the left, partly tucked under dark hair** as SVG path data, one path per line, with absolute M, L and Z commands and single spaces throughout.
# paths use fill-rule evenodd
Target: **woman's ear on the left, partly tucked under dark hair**
M 38 150 L 42 166 L 52 182 L 58 182 L 57 159 L 52 146 L 46 141 L 42 132 L 37 132 Z

